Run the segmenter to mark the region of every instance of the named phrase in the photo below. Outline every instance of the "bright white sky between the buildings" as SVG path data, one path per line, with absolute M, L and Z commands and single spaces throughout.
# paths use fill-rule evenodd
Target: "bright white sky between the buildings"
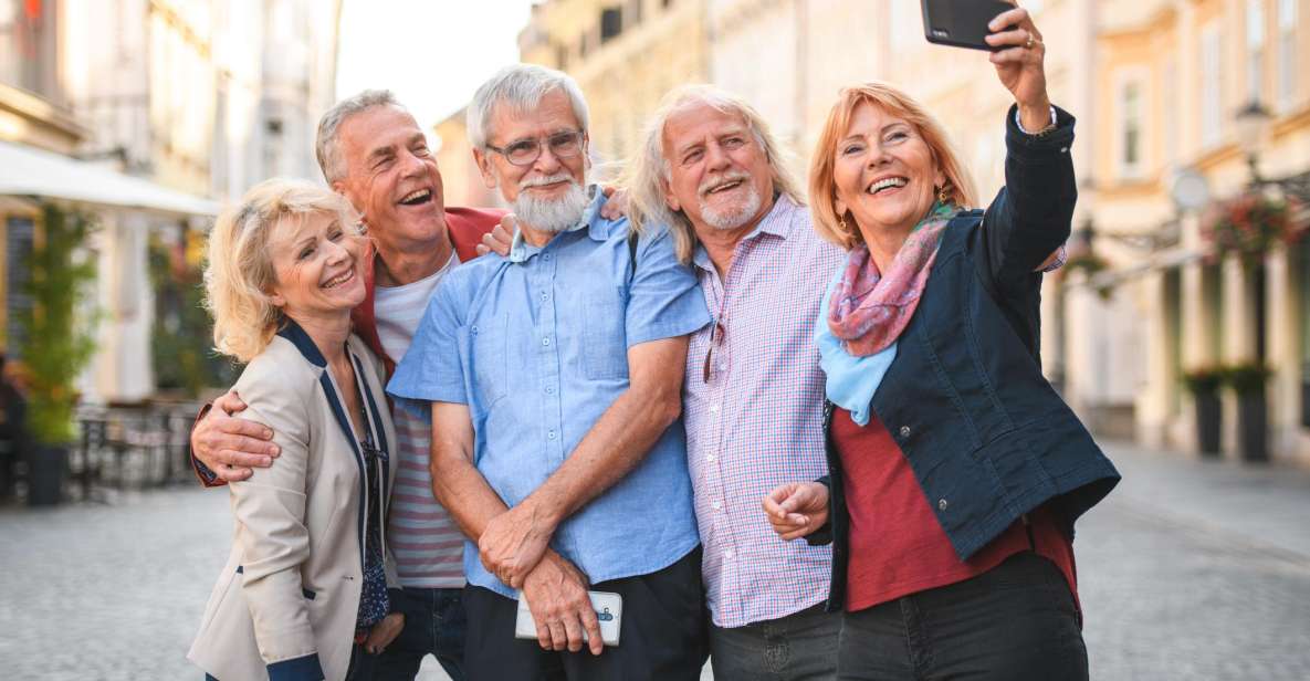
M 519 60 L 532 0 L 345 0 L 338 98 L 386 88 L 419 126 L 460 110 L 500 67 Z

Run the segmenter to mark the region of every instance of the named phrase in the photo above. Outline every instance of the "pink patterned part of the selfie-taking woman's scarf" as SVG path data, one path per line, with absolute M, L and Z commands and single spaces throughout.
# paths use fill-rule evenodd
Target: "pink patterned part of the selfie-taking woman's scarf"
M 959 212 L 952 203 L 934 203 L 896 253 L 887 276 L 878 271 L 869 245 L 852 249 L 828 306 L 828 327 L 846 352 L 869 356 L 900 338 L 924 295 L 946 225 Z

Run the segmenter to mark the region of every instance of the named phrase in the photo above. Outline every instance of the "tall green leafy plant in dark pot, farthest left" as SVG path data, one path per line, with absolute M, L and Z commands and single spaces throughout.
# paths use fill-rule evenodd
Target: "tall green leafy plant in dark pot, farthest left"
M 28 259 L 25 285 L 31 306 L 18 316 L 28 382 L 28 502 L 63 498 L 68 445 L 76 439 L 73 382 L 94 352 L 89 321 L 81 318 L 84 288 L 94 263 L 79 257 L 93 227 L 85 215 L 42 207 L 41 232 Z

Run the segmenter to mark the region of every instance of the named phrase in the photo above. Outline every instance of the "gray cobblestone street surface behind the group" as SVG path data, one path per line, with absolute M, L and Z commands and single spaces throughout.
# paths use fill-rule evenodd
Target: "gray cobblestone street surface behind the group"
M 1077 541 L 1093 678 L 1310 678 L 1310 471 L 1110 454 L 1125 481 Z M 0 676 L 199 678 L 183 655 L 228 550 L 227 502 L 0 511 Z M 428 663 L 423 678 L 443 678 Z

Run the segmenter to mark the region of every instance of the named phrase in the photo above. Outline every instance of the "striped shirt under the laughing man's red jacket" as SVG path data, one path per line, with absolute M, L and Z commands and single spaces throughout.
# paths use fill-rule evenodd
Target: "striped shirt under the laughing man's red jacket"
M 414 331 L 427 309 L 436 284 L 458 259 L 451 261 L 426 279 L 398 287 L 377 287 L 373 312 L 377 335 L 386 354 L 400 360 L 414 339 Z M 453 352 L 455 348 L 451 348 Z M 432 477 L 427 471 L 428 424 L 393 409 L 396 420 L 396 483 L 386 540 L 396 555 L 396 571 L 402 587 L 464 587 L 464 534 L 432 496 Z

